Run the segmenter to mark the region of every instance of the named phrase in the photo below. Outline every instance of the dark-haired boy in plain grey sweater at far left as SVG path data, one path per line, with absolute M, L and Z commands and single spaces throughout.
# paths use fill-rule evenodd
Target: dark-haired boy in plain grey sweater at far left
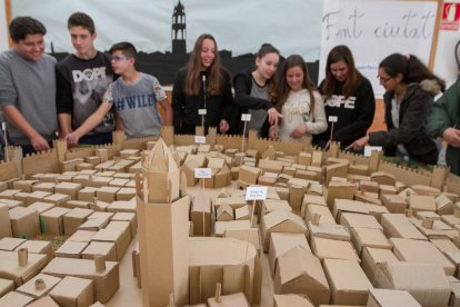
M 43 55 L 44 26 L 17 17 L 9 26 L 13 48 L 0 53 L 0 109 L 8 145 L 22 154 L 50 149 L 58 130 L 56 59 Z

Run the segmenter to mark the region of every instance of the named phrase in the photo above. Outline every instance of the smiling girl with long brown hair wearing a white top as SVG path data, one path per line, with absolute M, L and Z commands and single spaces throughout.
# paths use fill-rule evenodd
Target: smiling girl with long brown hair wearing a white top
M 286 59 L 277 86 L 274 107 L 286 118 L 280 127 L 270 127 L 270 139 L 301 142 L 303 137 L 323 132 L 328 128 L 321 95 L 308 76 L 302 57 Z

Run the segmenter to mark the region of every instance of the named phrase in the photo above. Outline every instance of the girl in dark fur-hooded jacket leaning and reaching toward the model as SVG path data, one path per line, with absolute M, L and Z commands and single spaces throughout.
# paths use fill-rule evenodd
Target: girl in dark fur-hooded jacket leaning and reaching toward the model
M 386 89 L 384 120 L 388 131 L 370 132 L 349 148 L 362 149 L 366 143 L 383 146 L 384 155 L 409 156 L 416 161 L 434 165 L 438 147 L 427 136 L 427 118 L 434 96 L 446 85 L 412 55 L 393 53 L 379 66 L 380 85 Z

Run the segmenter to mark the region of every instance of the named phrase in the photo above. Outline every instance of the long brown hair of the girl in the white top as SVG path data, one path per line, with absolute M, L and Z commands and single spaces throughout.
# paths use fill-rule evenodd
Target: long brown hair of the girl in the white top
M 310 76 L 308 75 L 306 61 L 302 59 L 302 57 L 298 55 L 292 55 L 286 59 L 284 65 L 282 66 L 280 82 L 278 83 L 278 87 L 277 87 L 277 100 L 274 102 L 274 107 L 277 108 L 279 112 L 281 112 L 282 107 L 286 103 L 286 100 L 288 100 L 289 91 L 291 90 L 291 88 L 288 85 L 286 75 L 288 73 L 289 69 L 297 67 L 297 66 L 300 67 L 300 69 L 302 69 L 303 71 L 302 89 L 307 89 L 310 93 L 309 113 L 311 113 L 312 110 L 314 109 L 313 91 L 318 91 L 318 89 L 314 87 L 313 82 L 310 79 Z

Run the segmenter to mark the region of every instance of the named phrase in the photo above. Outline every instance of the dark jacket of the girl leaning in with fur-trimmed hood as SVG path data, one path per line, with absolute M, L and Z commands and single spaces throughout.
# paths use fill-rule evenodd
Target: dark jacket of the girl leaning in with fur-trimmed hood
M 399 128 L 394 128 L 391 118 L 393 96 L 394 91 L 387 91 L 383 95 L 388 131 L 369 133 L 369 143 L 383 146 L 384 155 L 389 157 L 394 157 L 396 146 L 402 143 L 411 159 L 436 165 L 438 147 L 427 136 L 427 118 L 433 106 L 433 95 L 423 90 L 419 83 L 409 85 L 399 109 Z

